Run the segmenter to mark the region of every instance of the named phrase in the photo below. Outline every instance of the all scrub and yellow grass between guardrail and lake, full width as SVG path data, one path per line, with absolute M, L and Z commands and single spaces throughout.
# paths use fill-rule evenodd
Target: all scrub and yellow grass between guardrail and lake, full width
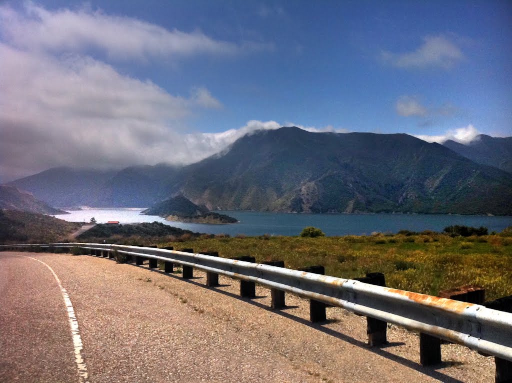
M 0 211 L 3 243 L 57 241 L 80 224 L 44 215 Z M 161 223 L 96 225 L 78 237 L 90 243 L 173 246 L 195 252 L 217 251 L 230 258 L 250 255 L 257 262 L 284 260 L 301 269 L 323 265 L 326 274 L 342 278 L 382 272 L 387 286 L 437 295 L 439 291 L 474 284 L 486 299 L 512 295 L 512 227 L 487 234 L 486 228 L 448 227 L 443 233 L 401 230 L 397 234 L 327 237 L 313 227 L 301 236 L 210 235 Z M 126 261 L 126 259 L 118 259 Z

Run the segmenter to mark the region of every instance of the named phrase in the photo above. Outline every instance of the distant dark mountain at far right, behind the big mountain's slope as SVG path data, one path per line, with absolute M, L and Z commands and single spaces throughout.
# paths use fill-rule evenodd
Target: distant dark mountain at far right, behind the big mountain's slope
M 478 164 L 494 166 L 512 173 L 512 137 L 480 134 L 469 144 L 460 144 L 449 139 L 443 145 Z

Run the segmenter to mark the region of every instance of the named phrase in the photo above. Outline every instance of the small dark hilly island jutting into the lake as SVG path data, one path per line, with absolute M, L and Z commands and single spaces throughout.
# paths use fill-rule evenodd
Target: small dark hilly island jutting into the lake
M 180 221 L 194 224 L 236 224 L 238 220 L 225 214 L 210 212 L 204 205 L 196 205 L 183 195 L 165 199 L 142 214 L 158 215 L 168 221 Z

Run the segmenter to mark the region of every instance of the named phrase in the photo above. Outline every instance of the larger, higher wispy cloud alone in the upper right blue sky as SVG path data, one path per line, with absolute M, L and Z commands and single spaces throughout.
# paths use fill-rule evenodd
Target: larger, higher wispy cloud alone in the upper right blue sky
M 382 51 L 383 61 L 398 68 L 451 68 L 463 58 L 461 50 L 444 36 L 426 36 L 423 44 L 413 52 Z

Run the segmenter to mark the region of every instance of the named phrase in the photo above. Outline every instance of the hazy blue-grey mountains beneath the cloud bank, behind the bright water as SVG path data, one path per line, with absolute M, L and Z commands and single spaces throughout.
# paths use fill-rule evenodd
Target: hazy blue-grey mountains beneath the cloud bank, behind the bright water
M 146 207 L 168 195 L 164 186 L 177 170 L 162 164 L 108 171 L 59 167 L 8 185 L 59 207 Z

